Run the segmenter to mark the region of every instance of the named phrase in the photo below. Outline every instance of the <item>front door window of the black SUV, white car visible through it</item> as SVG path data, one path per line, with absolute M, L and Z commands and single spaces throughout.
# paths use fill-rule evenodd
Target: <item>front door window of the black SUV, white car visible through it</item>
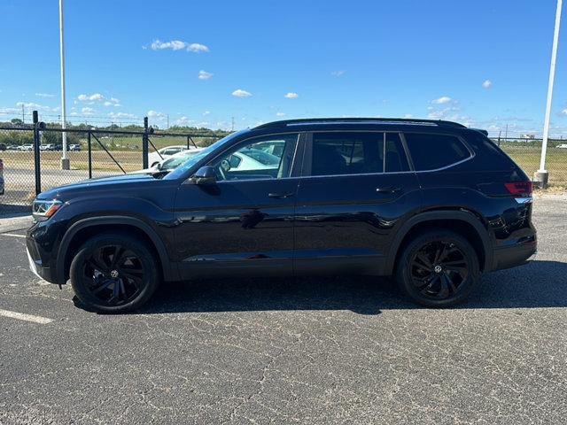
M 239 144 L 211 164 L 218 181 L 289 177 L 298 134 L 262 136 Z

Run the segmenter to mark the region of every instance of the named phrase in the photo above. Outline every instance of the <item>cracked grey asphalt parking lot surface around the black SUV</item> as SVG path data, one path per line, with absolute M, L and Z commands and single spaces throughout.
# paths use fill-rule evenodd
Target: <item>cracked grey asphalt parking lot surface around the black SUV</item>
M 565 423 L 567 197 L 537 259 L 428 310 L 369 278 L 163 285 L 99 315 L 0 235 L 0 423 Z

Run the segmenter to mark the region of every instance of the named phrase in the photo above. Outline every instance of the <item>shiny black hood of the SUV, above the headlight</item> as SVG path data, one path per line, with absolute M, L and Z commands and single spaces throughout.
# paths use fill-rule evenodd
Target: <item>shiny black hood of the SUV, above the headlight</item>
M 150 183 L 159 181 L 154 179 L 150 174 L 121 174 L 112 177 L 99 177 L 46 190 L 40 193 L 37 198 L 57 199 L 59 197 L 65 197 L 66 194 L 70 194 L 75 191 L 123 189 L 121 186 L 128 186 L 132 184 L 137 185 L 144 182 Z

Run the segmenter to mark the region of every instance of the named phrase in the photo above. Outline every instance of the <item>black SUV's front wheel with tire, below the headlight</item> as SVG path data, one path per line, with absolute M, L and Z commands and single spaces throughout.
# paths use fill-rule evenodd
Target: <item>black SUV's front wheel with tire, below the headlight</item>
M 121 233 L 90 238 L 77 251 L 69 275 L 77 298 L 98 313 L 141 307 L 159 286 L 158 267 L 146 244 Z

